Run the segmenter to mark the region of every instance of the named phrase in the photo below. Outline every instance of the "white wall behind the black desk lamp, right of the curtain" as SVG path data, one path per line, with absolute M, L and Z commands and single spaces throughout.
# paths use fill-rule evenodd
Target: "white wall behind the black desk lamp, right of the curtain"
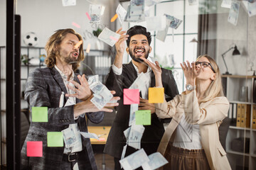
M 221 3 L 221 1 L 220 1 Z M 221 8 L 219 4 L 217 19 L 217 58 L 221 73 L 225 73 L 225 65 L 221 54 L 232 45 L 237 45 L 241 55 L 232 56 L 233 50 L 225 55 L 228 72 L 247 75 L 249 63 L 253 62 L 256 69 L 255 40 L 256 16 L 249 17 L 244 6 L 240 4 L 237 26 L 228 22 L 229 8 Z

